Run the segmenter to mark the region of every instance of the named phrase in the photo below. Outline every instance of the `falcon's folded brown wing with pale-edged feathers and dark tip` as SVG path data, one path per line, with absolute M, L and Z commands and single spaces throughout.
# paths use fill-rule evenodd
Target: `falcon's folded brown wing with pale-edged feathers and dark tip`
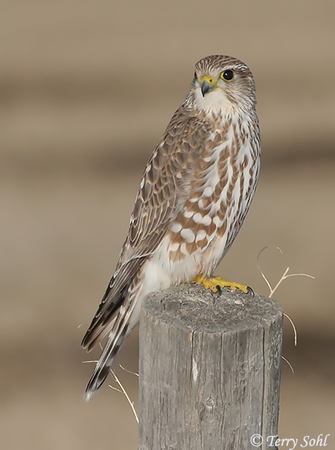
M 146 165 L 127 238 L 115 273 L 82 340 L 84 348 L 90 349 L 99 335 L 106 335 L 106 327 L 122 304 L 132 279 L 182 210 L 203 143 L 198 135 L 208 134 L 209 127 L 208 122 L 191 115 L 191 110 L 183 105 L 172 117 Z

